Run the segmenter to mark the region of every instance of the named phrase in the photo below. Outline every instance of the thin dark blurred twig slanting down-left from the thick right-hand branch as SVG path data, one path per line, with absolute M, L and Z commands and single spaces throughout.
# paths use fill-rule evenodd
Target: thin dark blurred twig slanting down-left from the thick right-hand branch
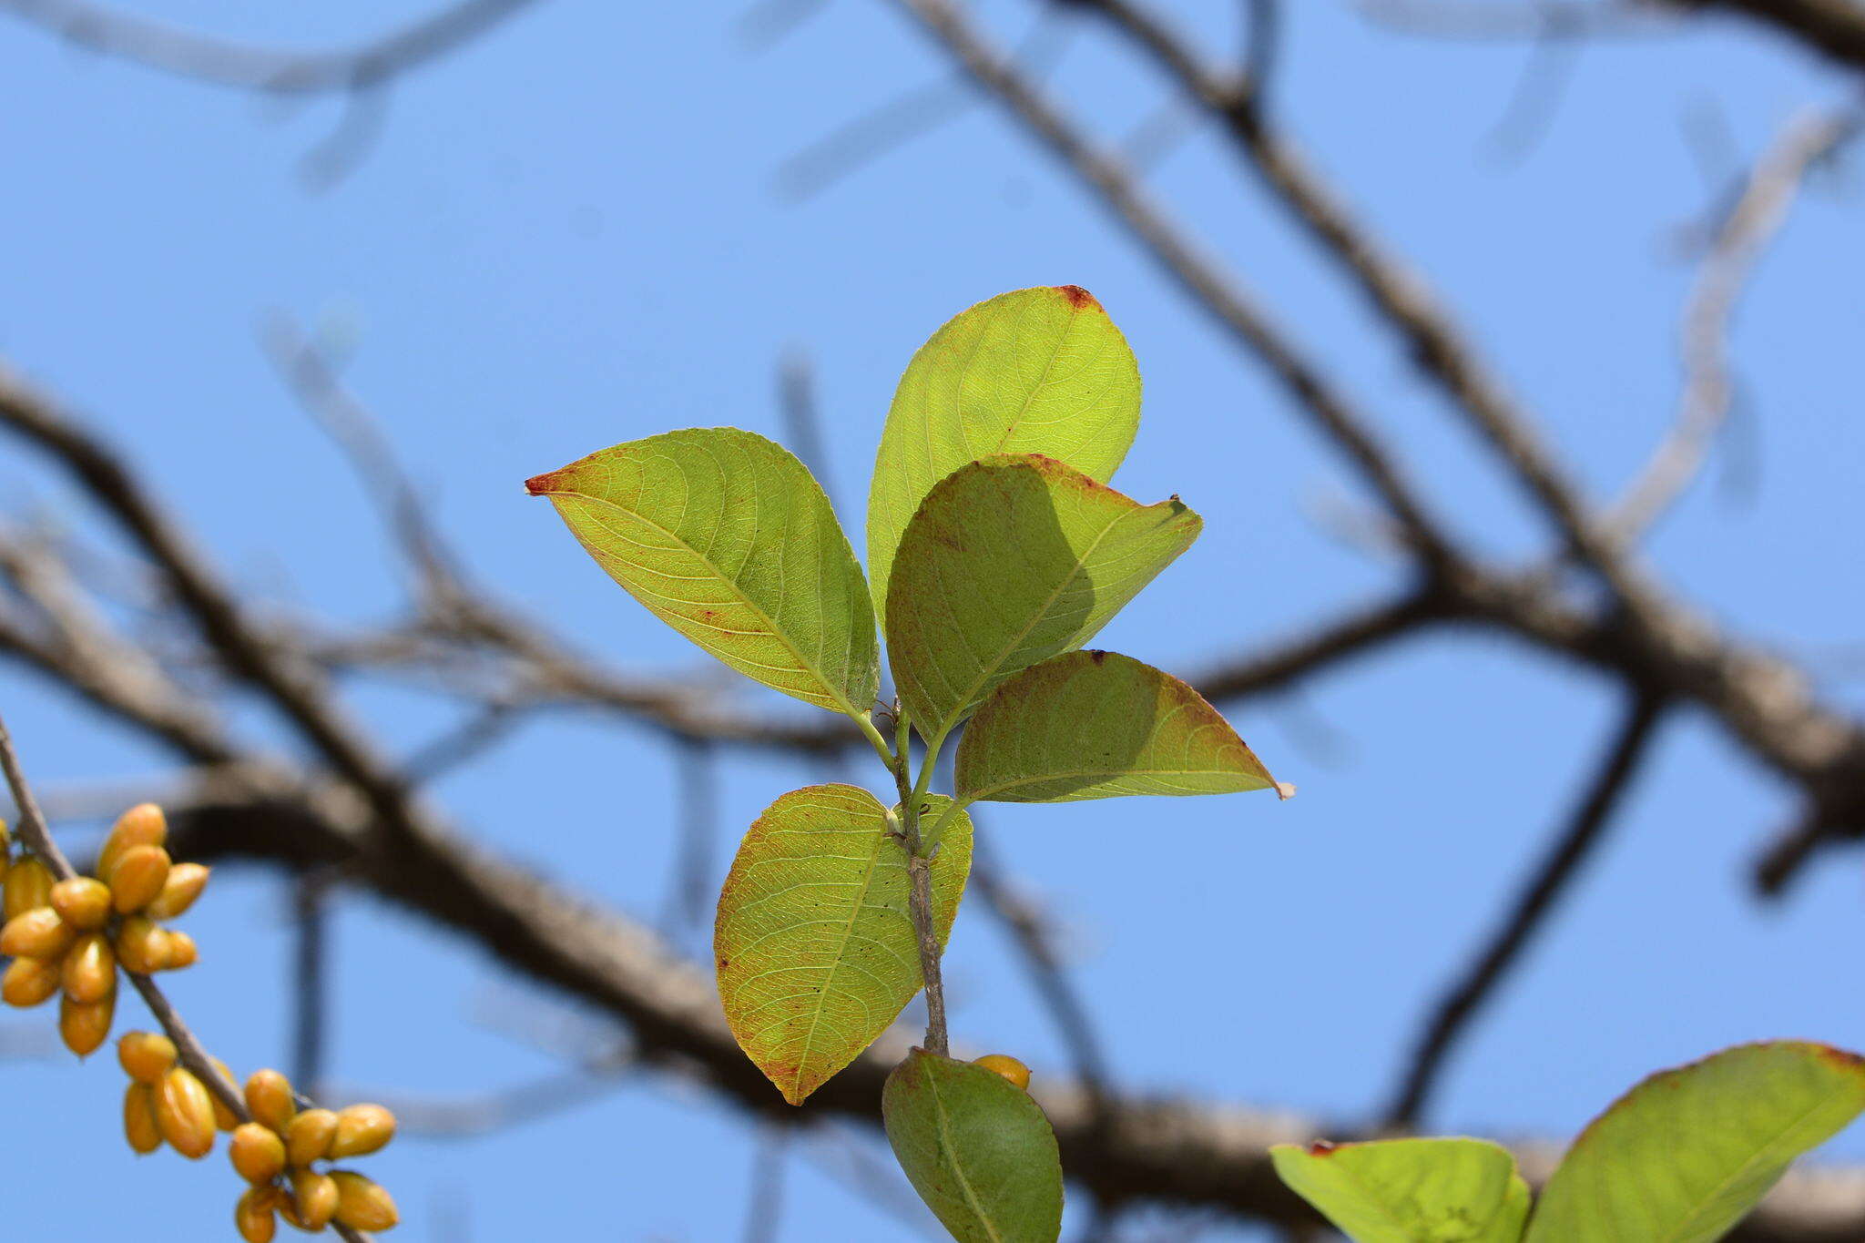
M 1438 1085 L 1445 1059 L 1449 1059 L 1470 1019 L 1494 993 L 1496 986 L 1509 975 L 1520 960 L 1529 939 L 1542 926 L 1555 902 L 1591 857 L 1604 837 L 1626 790 L 1630 790 L 1643 766 L 1658 721 L 1664 717 L 1665 701 L 1656 695 L 1634 695 L 1626 704 L 1624 721 L 1606 747 L 1598 772 L 1587 783 L 1580 803 L 1574 807 L 1567 831 L 1555 840 L 1548 857 L 1535 868 L 1527 885 L 1509 908 L 1509 915 L 1485 945 L 1483 952 L 1470 963 L 1464 977 L 1438 1003 L 1430 1023 L 1417 1042 L 1410 1070 L 1386 1109 L 1386 1129 L 1410 1129 L 1417 1122 Z

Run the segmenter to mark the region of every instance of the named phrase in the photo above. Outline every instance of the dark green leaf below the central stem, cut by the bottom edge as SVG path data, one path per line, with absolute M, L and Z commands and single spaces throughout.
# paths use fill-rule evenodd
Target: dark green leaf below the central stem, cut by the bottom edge
M 914 1049 L 888 1075 L 880 1114 L 906 1180 L 959 1243 L 1056 1243 L 1061 1155 L 1028 1092 Z

